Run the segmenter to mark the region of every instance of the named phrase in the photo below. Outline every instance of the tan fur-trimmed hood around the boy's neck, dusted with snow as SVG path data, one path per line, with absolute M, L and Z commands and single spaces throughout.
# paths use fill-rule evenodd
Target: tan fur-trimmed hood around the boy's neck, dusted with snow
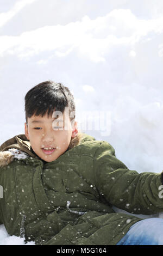
M 78 132 L 78 135 L 71 140 L 67 150 L 90 139 L 95 140 L 95 138 L 87 136 L 85 133 Z M 34 153 L 26 135 L 21 134 L 14 136 L 8 139 L 8 141 L 5 141 L 0 147 L 0 167 L 7 166 L 14 158 L 22 159 L 29 156 L 40 159 L 40 157 Z

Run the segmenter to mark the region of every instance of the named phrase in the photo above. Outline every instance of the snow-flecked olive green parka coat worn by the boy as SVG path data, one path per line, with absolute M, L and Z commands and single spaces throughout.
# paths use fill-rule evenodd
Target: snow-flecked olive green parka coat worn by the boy
M 137 173 L 108 142 L 84 135 L 53 162 L 35 155 L 25 135 L 0 147 L 0 219 L 10 235 L 36 245 L 116 245 L 142 220 L 116 213 L 163 211 L 162 174 Z

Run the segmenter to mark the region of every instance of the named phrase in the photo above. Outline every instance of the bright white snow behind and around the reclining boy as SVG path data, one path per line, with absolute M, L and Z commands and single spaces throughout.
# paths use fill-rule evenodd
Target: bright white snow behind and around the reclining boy
M 24 133 L 28 90 L 53 80 L 72 91 L 79 128 L 109 112 L 109 133 L 83 131 L 128 168 L 162 172 L 162 14 L 162 0 L 1 0 L 0 143 Z M 0 245 L 24 241 L 0 225 Z

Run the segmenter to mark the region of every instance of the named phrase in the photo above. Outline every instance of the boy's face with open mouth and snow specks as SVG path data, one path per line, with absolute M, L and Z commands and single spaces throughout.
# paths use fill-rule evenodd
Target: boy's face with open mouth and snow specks
M 57 121 L 60 120 L 60 121 Z M 25 125 L 25 135 L 30 141 L 30 145 L 37 156 L 46 162 L 56 160 L 67 150 L 71 138 L 78 133 L 77 122 L 71 125 L 67 114 L 62 114 L 61 118 L 35 116 L 28 118 L 28 125 Z M 43 148 L 54 149 L 43 149 Z

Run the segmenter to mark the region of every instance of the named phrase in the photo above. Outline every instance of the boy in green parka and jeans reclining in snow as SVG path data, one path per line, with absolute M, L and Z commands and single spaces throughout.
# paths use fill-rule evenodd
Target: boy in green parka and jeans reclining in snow
M 25 135 L 0 147 L 0 219 L 10 235 L 36 245 L 160 243 L 147 228 L 155 223 L 156 234 L 162 219 L 116 213 L 112 205 L 161 212 L 162 174 L 129 170 L 108 142 L 80 133 L 73 96 L 61 83 L 30 89 L 25 111 Z

